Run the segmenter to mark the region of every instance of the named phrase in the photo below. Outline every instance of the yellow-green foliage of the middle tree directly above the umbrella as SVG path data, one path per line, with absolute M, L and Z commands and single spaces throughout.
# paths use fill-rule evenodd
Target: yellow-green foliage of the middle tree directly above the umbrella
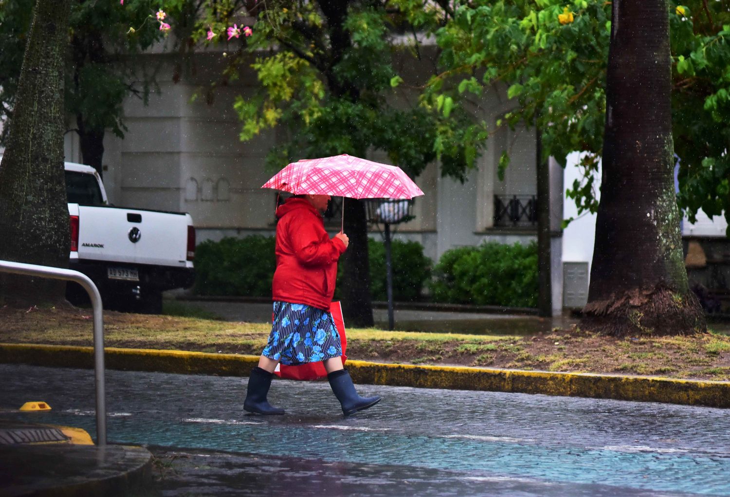
M 208 23 L 225 24 L 241 6 L 235 0 L 211 4 L 196 32 L 204 36 Z M 275 126 L 287 128 L 288 140 L 269 150 L 267 165 L 279 169 L 301 157 L 364 156 L 369 150 L 382 150 L 411 175 L 443 154 L 448 174 L 463 177 L 464 160 L 475 160 L 476 147 L 455 145 L 451 140 L 458 133 L 439 145 L 445 137 L 437 131 L 442 120 L 460 119 L 453 96 L 434 94 L 429 105 L 395 108 L 388 101 L 406 74 L 413 84 L 410 66 L 396 69 L 392 61 L 409 61 L 420 50 L 420 41 L 407 36 L 397 35 L 396 42 L 396 32 L 412 32 L 411 22 L 423 28 L 419 36 L 435 31 L 440 23 L 434 17 L 437 12 L 424 12 L 415 0 L 393 1 L 388 9 L 359 0 L 269 0 L 265 7 L 253 9 L 260 9 L 255 34 L 235 62 L 255 57 L 250 67 L 259 85 L 253 95 L 239 96 L 234 108 L 243 140 Z M 239 71 L 233 63 L 231 67 Z M 474 81 L 472 88 L 478 87 Z M 410 88 L 399 89 L 399 98 L 408 96 Z

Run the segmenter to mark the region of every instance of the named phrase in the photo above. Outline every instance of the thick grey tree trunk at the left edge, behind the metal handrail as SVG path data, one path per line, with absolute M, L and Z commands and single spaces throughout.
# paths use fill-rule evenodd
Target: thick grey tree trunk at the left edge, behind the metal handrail
M 68 267 L 64 55 L 70 0 L 38 0 L 0 165 L 0 260 Z M 64 299 L 64 282 L 0 274 L 0 301 Z

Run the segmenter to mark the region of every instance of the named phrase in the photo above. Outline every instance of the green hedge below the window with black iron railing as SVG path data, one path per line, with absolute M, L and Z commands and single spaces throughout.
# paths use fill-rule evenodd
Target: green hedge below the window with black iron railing
M 437 302 L 537 307 L 537 244 L 489 242 L 447 250 L 430 288 Z

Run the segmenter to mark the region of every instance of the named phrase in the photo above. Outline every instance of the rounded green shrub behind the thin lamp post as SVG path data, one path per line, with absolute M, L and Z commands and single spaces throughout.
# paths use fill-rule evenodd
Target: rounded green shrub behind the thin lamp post
M 388 300 L 388 275 L 385 270 L 385 243 L 369 239 L 370 296 L 373 300 Z M 393 257 L 393 300 L 415 301 L 431 275 L 431 259 L 423 255 L 418 242 L 391 240 Z

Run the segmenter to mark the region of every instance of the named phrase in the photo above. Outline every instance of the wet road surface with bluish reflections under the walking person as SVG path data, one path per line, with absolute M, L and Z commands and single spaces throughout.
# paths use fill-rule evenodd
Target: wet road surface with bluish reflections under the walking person
M 0 375 L 1 408 L 53 407 L 3 417 L 93 434 L 93 371 Z M 164 496 L 730 496 L 723 409 L 360 385 L 383 401 L 345 418 L 326 382 L 276 381 L 287 415 L 261 417 L 246 380 L 107 371 L 110 442 L 149 446 Z

